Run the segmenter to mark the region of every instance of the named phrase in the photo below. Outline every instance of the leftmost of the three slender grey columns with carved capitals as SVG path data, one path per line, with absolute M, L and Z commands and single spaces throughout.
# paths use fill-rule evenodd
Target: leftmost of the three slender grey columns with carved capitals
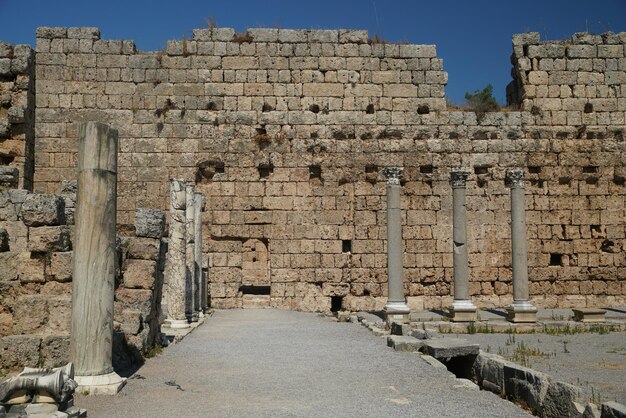
M 382 170 L 387 178 L 387 286 L 385 305 L 387 322 L 408 321 L 409 307 L 404 297 L 402 268 L 402 221 L 400 211 L 400 175 L 402 168 L 389 167 Z

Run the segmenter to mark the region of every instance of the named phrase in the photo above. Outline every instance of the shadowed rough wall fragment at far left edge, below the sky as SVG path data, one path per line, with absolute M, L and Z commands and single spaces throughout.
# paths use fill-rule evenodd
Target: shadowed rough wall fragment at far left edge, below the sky
M 35 66 L 30 45 L 0 41 L 0 190 L 32 190 Z

